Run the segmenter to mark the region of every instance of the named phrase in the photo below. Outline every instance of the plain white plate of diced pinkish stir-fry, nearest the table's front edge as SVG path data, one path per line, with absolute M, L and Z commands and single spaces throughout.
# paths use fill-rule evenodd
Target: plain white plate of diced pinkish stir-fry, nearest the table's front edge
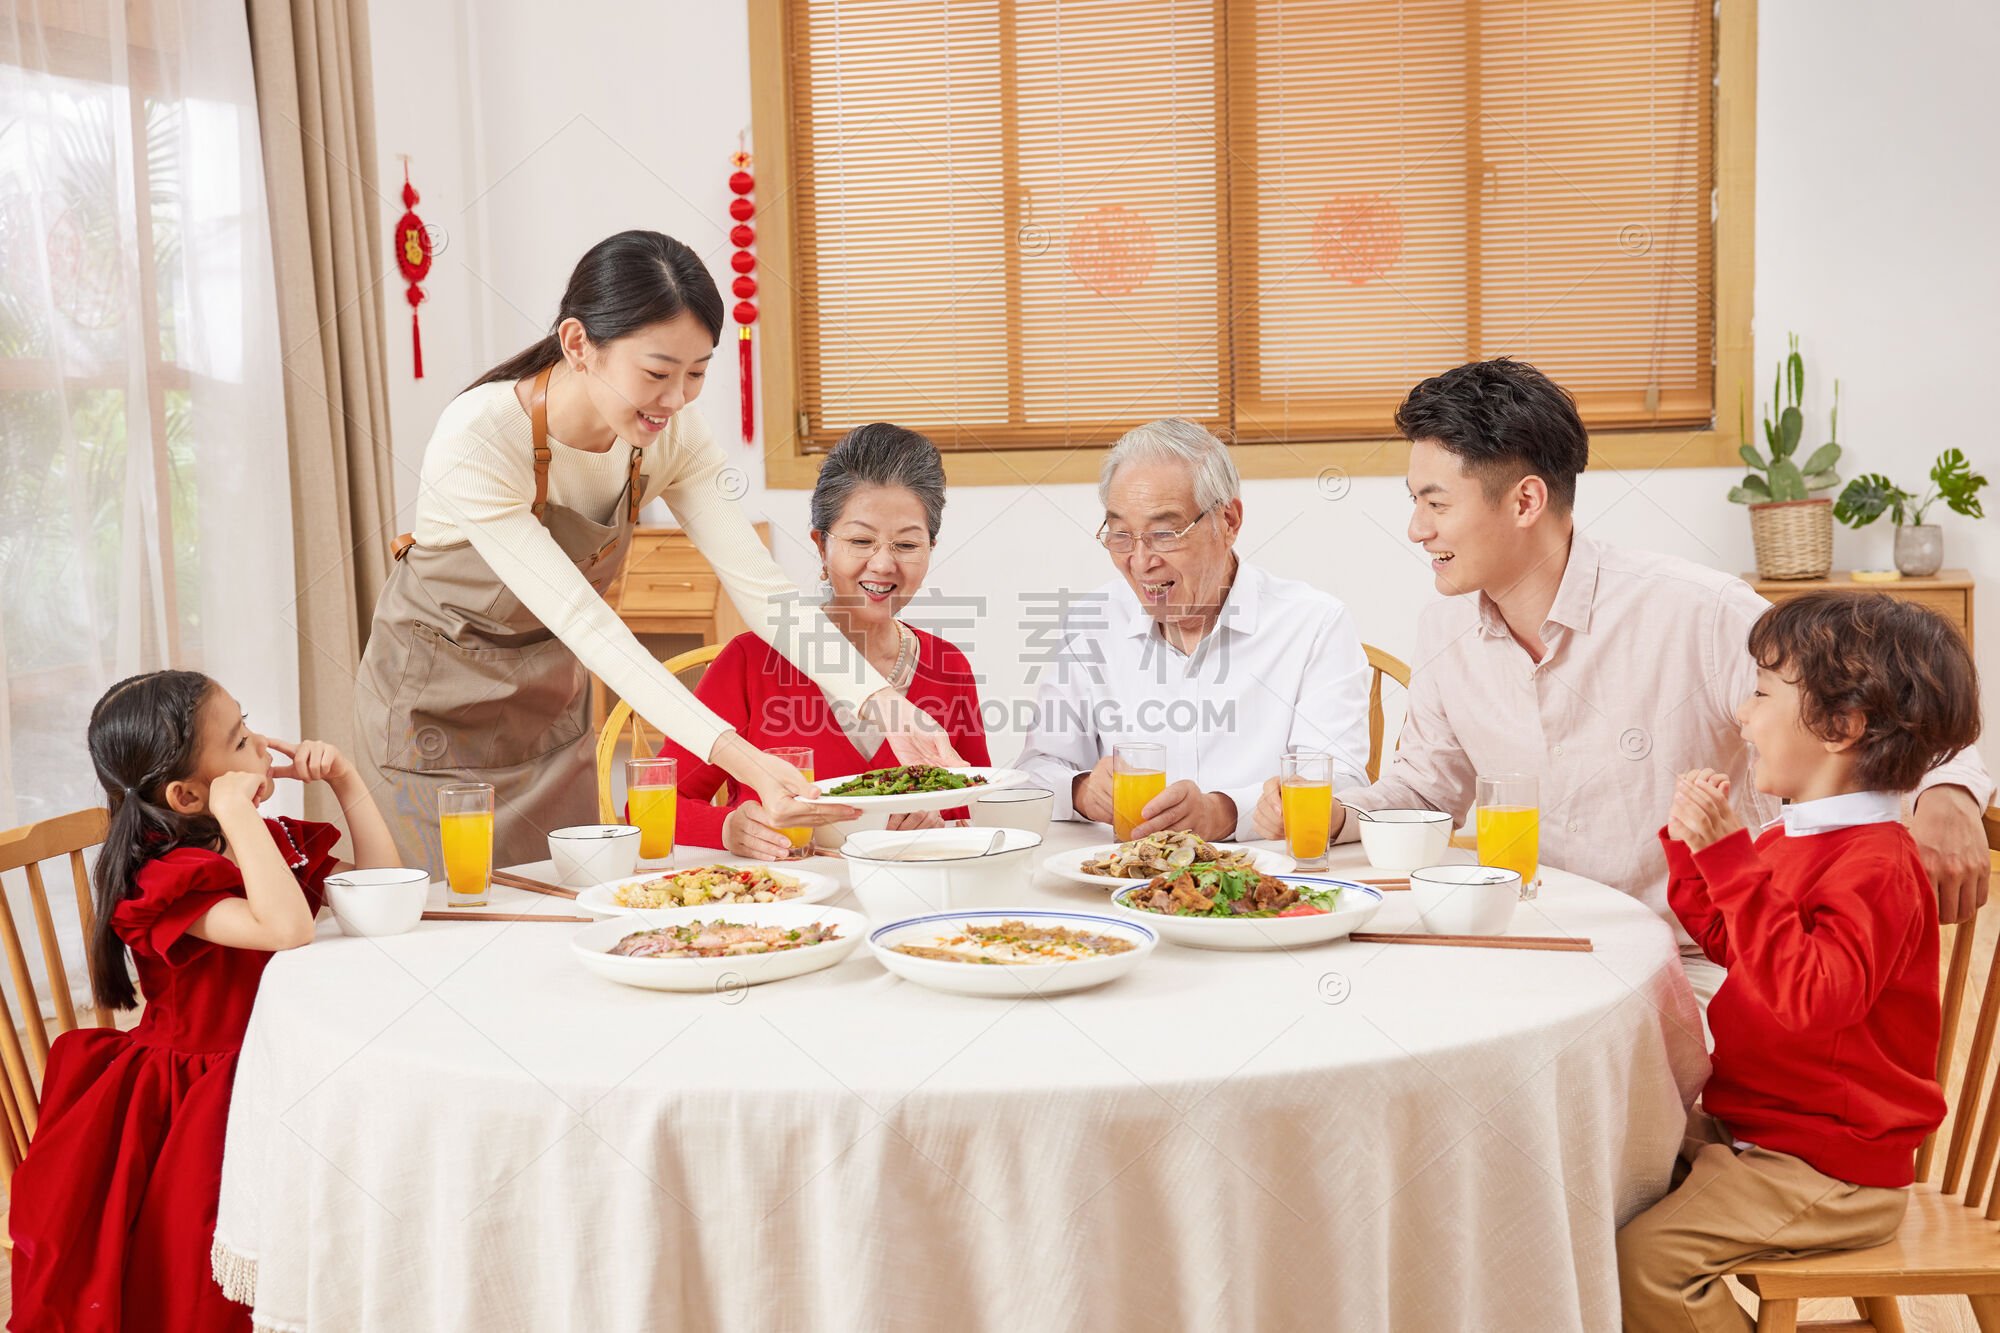
M 802 977 L 854 953 L 868 919 L 816 903 L 638 911 L 576 933 L 590 971 L 648 991 L 728 991 Z

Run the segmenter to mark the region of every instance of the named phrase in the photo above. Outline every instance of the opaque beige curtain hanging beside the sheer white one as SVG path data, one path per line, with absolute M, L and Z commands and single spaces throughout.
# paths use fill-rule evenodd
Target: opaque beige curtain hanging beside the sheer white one
M 246 6 L 284 342 L 300 727 L 352 755 L 354 673 L 396 522 L 368 4 Z M 322 787 L 306 813 L 332 815 Z

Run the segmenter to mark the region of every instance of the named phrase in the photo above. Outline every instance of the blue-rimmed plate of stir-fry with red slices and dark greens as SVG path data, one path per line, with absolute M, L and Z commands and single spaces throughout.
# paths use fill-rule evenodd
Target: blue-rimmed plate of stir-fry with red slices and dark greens
M 1320 875 L 1188 865 L 1128 885 L 1112 907 L 1194 949 L 1292 949 L 1362 929 L 1382 891 Z

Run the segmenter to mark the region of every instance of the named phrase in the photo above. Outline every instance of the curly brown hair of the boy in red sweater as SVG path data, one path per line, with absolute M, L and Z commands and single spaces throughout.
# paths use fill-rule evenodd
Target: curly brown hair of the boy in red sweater
M 1936 610 L 1888 592 L 1806 592 L 1750 626 L 1750 656 L 1798 681 L 1800 721 L 1840 741 L 1856 719 L 1856 781 L 1910 791 L 1980 735 L 1972 652 Z

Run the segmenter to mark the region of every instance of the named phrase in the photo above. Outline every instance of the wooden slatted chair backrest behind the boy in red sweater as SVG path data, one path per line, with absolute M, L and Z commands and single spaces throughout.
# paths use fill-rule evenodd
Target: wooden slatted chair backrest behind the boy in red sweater
M 2000 809 L 1986 811 L 1986 847 L 2000 851 Z M 1952 929 L 1952 953 L 1944 969 L 1944 1027 L 1938 1037 L 1938 1085 L 1950 1087 L 1952 1057 L 1958 1045 L 1960 1017 L 1966 1007 L 1966 981 L 1972 971 L 1972 953 L 1980 933 L 1980 919 L 2000 913 L 2000 907 L 1986 905 L 1970 921 Z M 1964 1187 L 1968 1209 L 1986 1205 L 1986 1217 L 2000 1221 L 2000 1187 L 1996 1187 L 1996 1161 L 2000 1161 L 2000 1069 L 1988 1079 L 1988 1065 L 1994 1057 L 1994 1029 L 2000 1027 L 2000 949 L 1988 941 L 1994 959 L 1986 969 L 1986 987 L 1980 993 L 1978 1019 L 1972 1023 L 1958 1099 L 1952 1103 L 1950 1141 L 1944 1149 L 1944 1177 L 1938 1189 L 1946 1195 Z M 1974 1133 L 1976 1131 L 1976 1133 Z M 1938 1135 L 1932 1133 L 1916 1153 L 1916 1179 L 1928 1179 Z M 1970 1155 L 1970 1161 L 1968 1161 Z

